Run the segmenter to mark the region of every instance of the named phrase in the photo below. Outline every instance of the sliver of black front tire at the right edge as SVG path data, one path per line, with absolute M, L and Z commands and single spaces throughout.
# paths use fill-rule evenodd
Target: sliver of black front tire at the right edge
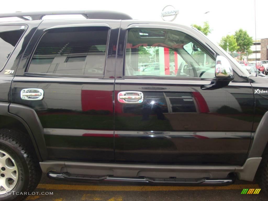
M 268 147 L 266 147 L 262 155 L 262 161 L 256 173 L 256 181 L 261 191 L 268 196 Z

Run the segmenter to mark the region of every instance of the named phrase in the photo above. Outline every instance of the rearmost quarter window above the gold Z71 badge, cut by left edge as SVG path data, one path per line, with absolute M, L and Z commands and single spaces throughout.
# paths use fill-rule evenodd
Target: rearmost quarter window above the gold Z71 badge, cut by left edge
M 25 28 L 25 26 L 21 25 L 0 26 L 0 70 L 13 52 Z

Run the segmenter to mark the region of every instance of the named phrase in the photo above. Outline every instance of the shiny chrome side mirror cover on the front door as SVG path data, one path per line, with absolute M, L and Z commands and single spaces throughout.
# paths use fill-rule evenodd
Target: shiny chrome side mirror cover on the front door
M 217 56 L 215 65 L 215 76 L 219 81 L 232 81 L 234 79 L 233 69 L 223 56 Z

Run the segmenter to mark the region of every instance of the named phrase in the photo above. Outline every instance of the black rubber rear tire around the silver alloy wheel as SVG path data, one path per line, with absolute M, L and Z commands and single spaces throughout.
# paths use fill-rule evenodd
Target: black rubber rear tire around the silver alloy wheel
M 31 140 L 22 133 L 0 129 L 0 150 L 13 158 L 18 169 L 18 181 L 12 191 L 27 192 L 27 195 L 37 187 L 42 175 L 36 153 L 30 142 Z M 19 201 L 24 200 L 27 195 L 5 193 L 0 195 L 0 200 Z

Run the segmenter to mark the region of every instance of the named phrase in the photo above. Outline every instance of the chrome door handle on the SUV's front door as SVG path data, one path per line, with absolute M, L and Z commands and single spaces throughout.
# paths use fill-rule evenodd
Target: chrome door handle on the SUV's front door
M 140 91 L 121 91 L 117 98 L 120 103 L 137 104 L 143 102 L 143 93 Z

